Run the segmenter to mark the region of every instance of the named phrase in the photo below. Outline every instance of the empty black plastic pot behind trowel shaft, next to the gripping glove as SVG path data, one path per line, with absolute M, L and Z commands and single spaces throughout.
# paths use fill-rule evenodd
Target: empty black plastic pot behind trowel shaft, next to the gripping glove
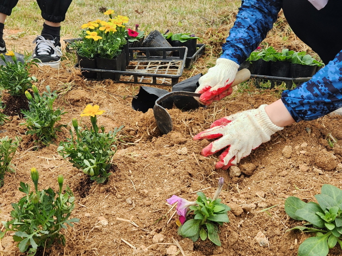
M 197 87 L 199 87 L 198 80 L 202 74 L 194 75 L 186 80 L 183 80 L 182 82 L 175 84 L 172 86 L 172 91 L 191 91 L 195 92 Z M 182 111 L 189 111 L 191 109 L 199 108 L 200 106 L 204 106 L 200 104 L 197 100 L 195 100 L 193 97 L 188 96 L 173 96 L 172 97 L 174 105 L 181 109 Z

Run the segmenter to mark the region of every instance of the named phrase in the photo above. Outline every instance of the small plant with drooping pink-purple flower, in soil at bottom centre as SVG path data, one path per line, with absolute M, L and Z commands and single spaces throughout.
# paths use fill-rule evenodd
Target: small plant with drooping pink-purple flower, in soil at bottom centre
M 221 199 L 218 198 L 222 187 L 223 178 L 219 178 L 218 189 L 213 199 L 207 198 L 202 192 L 198 192 L 195 202 L 187 201 L 175 195 L 166 200 L 169 204 L 177 202 L 177 213 L 180 217 L 176 224 L 179 226 L 179 235 L 190 238 L 194 242 L 199 238 L 202 241 L 209 238 L 210 241 L 221 246 L 218 237 L 218 225 L 223 226 L 224 222 L 229 222 L 227 211 L 231 210 L 229 206 L 221 204 Z M 190 213 L 193 214 L 189 215 Z

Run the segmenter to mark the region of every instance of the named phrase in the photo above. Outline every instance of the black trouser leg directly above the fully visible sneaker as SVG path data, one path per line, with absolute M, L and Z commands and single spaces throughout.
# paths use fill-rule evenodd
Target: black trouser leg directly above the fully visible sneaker
M 37 0 L 43 19 L 50 22 L 62 22 L 72 0 Z

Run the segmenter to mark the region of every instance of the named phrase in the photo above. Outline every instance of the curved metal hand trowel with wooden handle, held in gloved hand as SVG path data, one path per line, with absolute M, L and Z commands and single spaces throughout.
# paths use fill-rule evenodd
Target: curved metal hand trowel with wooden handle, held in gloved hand
M 250 72 L 248 69 L 242 69 L 239 72 L 237 72 L 235 76 L 235 80 L 232 84 L 232 86 L 238 85 L 239 83 L 242 83 L 246 80 L 248 80 L 250 77 Z M 190 78 L 189 78 L 190 79 Z M 164 107 L 159 105 L 163 100 L 172 97 L 172 96 L 190 96 L 190 97 L 200 97 L 200 93 L 190 92 L 190 91 L 171 91 L 169 93 L 166 93 L 159 97 L 155 101 L 155 106 L 153 107 L 153 113 L 155 115 L 155 121 L 157 123 L 157 126 L 162 134 L 168 134 L 172 131 L 172 120 L 171 116 L 166 111 Z

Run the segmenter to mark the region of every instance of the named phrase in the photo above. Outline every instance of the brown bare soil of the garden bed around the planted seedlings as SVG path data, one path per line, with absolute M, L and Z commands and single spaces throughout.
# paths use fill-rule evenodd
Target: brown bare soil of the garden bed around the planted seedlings
M 324 183 L 341 187 L 341 170 L 336 167 L 342 159 L 340 116 L 326 116 L 285 128 L 241 161 L 238 167 L 243 173 L 239 177 L 230 177 L 229 171 L 215 170 L 218 155 L 209 158 L 200 155 L 208 142 L 193 141 L 192 136 L 208 128 L 214 119 L 275 101 L 277 98 L 270 93 L 234 93 L 217 104 L 190 113 L 171 109 L 168 112 L 173 131 L 161 136 L 152 109 L 142 113 L 131 107 L 132 96 L 139 90 L 135 84 L 85 81 L 79 70 L 65 65 L 58 73 L 49 68 L 34 68 L 33 75 L 41 81 L 40 91 L 47 85 L 60 91 L 55 105 L 68 112 L 62 116 L 61 124 L 70 127 L 72 118 L 80 120 L 85 105 L 96 104 L 106 110 L 99 116 L 98 124 L 105 125 L 106 130 L 124 125 L 122 135 L 126 136 L 126 144 L 119 145 L 114 155 L 109 182 L 95 184 L 63 160 L 56 145 L 33 151 L 32 137 L 25 136 L 26 128 L 18 125 L 23 120 L 13 117 L 0 126 L 1 136 L 23 137 L 13 159 L 16 173 L 7 173 L 0 188 L 1 220 L 7 219 L 11 203 L 24 195 L 17 188 L 20 181 L 29 181 L 31 167 L 40 171 L 40 188 L 51 186 L 57 190 L 55 180 L 63 174 L 64 182 L 76 196 L 71 217 L 79 218 L 80 222 L 64 231 L 65 247 L 54 244 L 46 250 L 46 256 L 163 256 L 174 241 L 179 241 L 185 255 L 192 256 L 295 256 L 308 235 L 285 233 L 287 228 L 301 224 L 285 214 L 285 198 L 298 196 L 312 201 Z M 89 126 L 89 120 L 83 119 L 81 125 L 84 124 Z M 58 134 L 56 143 L 69 136 L 69 127 Z M 334 148 L 326 140 L 330 133 L 339 140 Z M 222 246 L 210 241 L 192 243 L 178 236 L 177 214 L 172 217 L 174 209 L 170 211 L 165 200 L 174 194 L 194 200 L 199 190 L 213 196 L 219 177 L 225 179 L 222 202 L 232 208 L 228 212 L 231 222 L 220 228 Z M 266 236 L 265 246 L 254 239 L 258 232 Z M 10 235 L 1 241 L 2 248 L 8 255 L 19 256 Z M 330 255 L 341 255 L 341 249 L 330 250 Z

